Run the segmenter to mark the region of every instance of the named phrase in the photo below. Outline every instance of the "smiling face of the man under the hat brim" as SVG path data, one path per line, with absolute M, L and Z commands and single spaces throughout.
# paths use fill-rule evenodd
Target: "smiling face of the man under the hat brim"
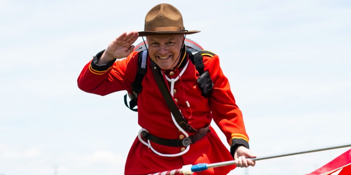
M 174 70 L 179 60 L 183 35 L 146 36 L 149 55 L 161 69 Z

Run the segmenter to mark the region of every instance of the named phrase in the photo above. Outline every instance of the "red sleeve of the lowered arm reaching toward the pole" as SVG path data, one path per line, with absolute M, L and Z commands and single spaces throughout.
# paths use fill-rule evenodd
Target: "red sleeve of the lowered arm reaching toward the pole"
M 249 148 L 249 137 L 245 131 L 243 114 L 236 105 L 229 81 L 220 68 L 219 57 L 217 55 L 203 56 L 203 59 L 205 71 L 207 68 L 213 82 L 210 95 L 212 117 L 225 134 L 233 155 L 239 145 Z

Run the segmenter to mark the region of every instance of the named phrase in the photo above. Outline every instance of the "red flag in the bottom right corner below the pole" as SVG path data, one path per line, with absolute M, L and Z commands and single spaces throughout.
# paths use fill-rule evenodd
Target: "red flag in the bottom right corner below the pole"
M 351 149 L 306 175 L 351 175 Z

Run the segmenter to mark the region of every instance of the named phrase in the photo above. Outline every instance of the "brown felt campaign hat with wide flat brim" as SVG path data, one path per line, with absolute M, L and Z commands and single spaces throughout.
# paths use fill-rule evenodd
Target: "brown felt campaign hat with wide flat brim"
M 144 30 L 138 32 L 139 36 L 190 35 L 200 32 L 197 30 L 185 30 L 183 17 L 179 10 L 168 3 L 161 3 L 155 6 L 146 14 Z

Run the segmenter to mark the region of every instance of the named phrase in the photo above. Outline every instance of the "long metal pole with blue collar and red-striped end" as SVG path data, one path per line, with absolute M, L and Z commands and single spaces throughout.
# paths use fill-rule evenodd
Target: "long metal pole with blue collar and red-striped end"
M 291 153 L 261 156 L 261 157 L 253 158 L 251 160 L 257 161 L 257 160 L 273 159 L 273 158 L 280 158 L 280 157 L 284 157 L 284 156 L 313 153 L 313 152 L 318 152 L 318 151 L 326 151 L 326 150 L 330 150 L 330 149 L 344 148 L 344 147 L 350 147 L 350 146 L 351 146 L 351 143 L 348 143 L 348 144 L 342 144 L 342 145 L 327 146 L 327 147 L 322 147 L 322 148 L 307 149 L 304 151 L 297 151 L 297 152 L 291 152 Z M 148 174 L 148 175 L 175 175 L 175 174 L 188 175 L 188 174 L 191 174 L 193 172 L 201 172 L 201 171 L 206 170 L 208 168 L 233 165 L 234 162 L 235 162 L 234 160 L 231 160 L 231 161 L 211 163 L 211 164 L 199 163 L 197 165 L 185 165 L 185 166 L 183 166 L 183 168 L 180 168 L 180 169 L 175 169 L 175 170 L 161 172 L 161 173 L 155 173 L 155 174 Z M 190 169 L 188 167 L 190 167 Z M 186 172 L 186 173 L 183 173 L 183 172 Z

